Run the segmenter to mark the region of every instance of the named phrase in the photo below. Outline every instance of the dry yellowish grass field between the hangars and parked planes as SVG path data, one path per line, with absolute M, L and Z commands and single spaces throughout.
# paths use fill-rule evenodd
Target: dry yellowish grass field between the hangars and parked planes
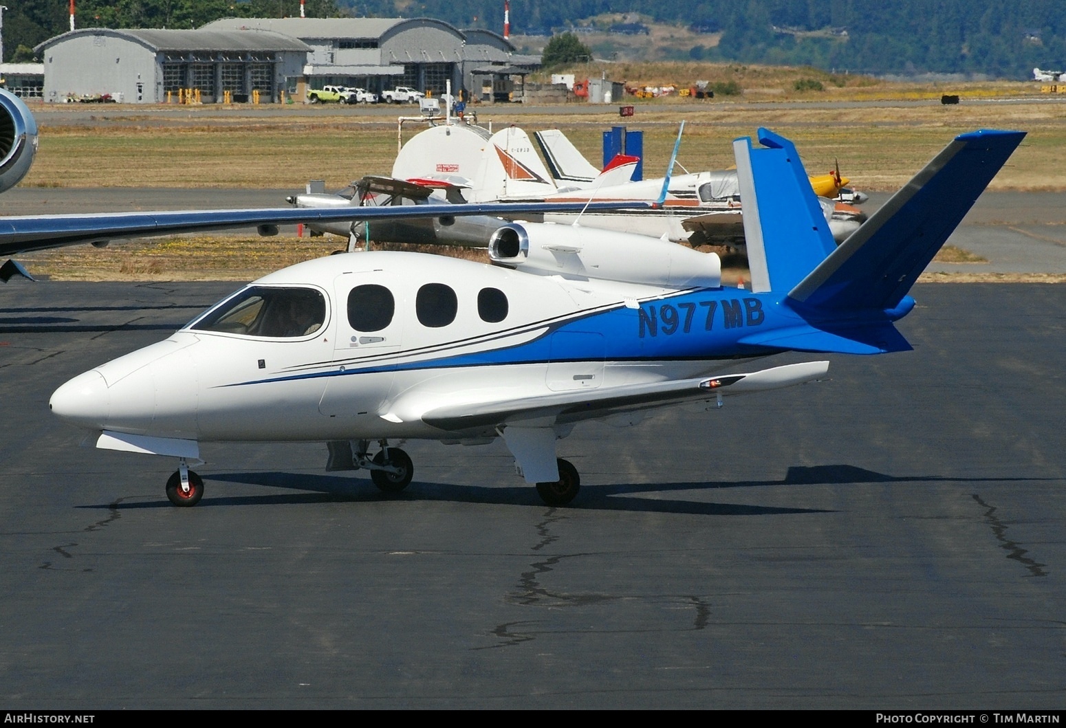
M 845 106 L 846 104 L 846 106 Z M 1031 102 L 898 106 L 849 103 L 691 101 L 650 102 L 626 119 L 645 133 L 645 174 L 665 171 L 680 120 L 685 122 L 679 162 L 688 169 L 730 166 L 729 142 L 762 126 L 792 139 L 808 172 L 839 160 L 845 176 L 863 190 L 895 190 L 955 134 L 979 128 L 1029 132 L 1011 163 L 992 181 L 998 190 L 1066 190 L 1066 103 Z M 387 174 L 397 148 L 390 117 L 358 109 L 314 117 L 297 108 L 268 117 L 239 108 L 190 108 L 174 123 L 162 110 L 101 108 L 99 125 L 42 123 L 41 151 L 23 180 L 29 187 L 302 188 L 307 179 L 341 187 L 365 174 Z M 210 118 L 197 119 L 197 115 Z M 494 128 L 563 129 L 591 160 L 600 157 L 601 132 L 619 124 L 616 107 L 602 114 L 529 116 L 511 107 L 482 107 Z M 404 131 L 409 137 L 415 129 Z

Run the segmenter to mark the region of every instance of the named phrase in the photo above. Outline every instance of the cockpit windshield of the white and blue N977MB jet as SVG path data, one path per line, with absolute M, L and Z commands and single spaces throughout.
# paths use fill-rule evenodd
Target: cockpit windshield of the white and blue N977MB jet
M 325 321 L 325 296 L 317 289 L 252 286 L 215 306 L 190 328 L 292 338 L 314 334 Z

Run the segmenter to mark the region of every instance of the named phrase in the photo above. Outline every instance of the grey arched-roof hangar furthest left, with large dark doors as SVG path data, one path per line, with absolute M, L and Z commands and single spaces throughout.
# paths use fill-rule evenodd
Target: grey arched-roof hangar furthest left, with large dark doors
M 246 101 L 280 99 L 286 79 L 303 72 L 310 48 L 270 31 L 109 30 L 85 28 L 45 41 L 46 101 L 110 94 L 117 101 L 161 103 L 171 92 L 200 92 L 205 103 L 230 92 Z

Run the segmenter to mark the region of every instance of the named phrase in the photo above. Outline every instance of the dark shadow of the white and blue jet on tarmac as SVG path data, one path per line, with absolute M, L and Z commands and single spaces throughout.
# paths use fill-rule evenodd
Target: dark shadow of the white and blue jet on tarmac
M 386 495 L 368 480 L 344 475 L 322 475 L 293 472 L 214 473 L 205 478 L 208 483 L 225 482 L 244 485 L 262 485 L 272 488 L 298 490 L 298 494 L 271 494 L 262 496 L 208 495 L 196 507 L 219 505 L 279 505 L 328 502 L 450 501 L 491 505 L 533 505 L 545 507 L 534 488 L 528 485 L 472 486 L 452 483 L 415 481 L 400 495 Z M 1004 482 L 1031 481 L 1029 478 L 946 478 L 914 475 L 897 478 L 865 470 L 851 465 L 824 465 L 790 467 L 782 480 L 689 482 L 689 483 L 627 483 L 612 485 L 583 485 L 577 500 L 568 506 L 592 511 L 631 511 L 639 513 L 673 513 L 702 516 L 770 516 L 789 514 L 836 513 L 825 508 L 789 508 L 734 503 L 706 503 L 688 500 L 642 498 L 637 494 L 666 494 L 672 491 L 711 490 L 717 488 L 752 488 L 781 485 L 850 485 L 862 483 L 931 483 L 931 482 Z M 217 492 L 217 491 L 216 491 Z M 627 497 L 627 495 L 631 497 Z M 165 500 L 81 507 L 108 507 L 118 509 L 172 507 Z

